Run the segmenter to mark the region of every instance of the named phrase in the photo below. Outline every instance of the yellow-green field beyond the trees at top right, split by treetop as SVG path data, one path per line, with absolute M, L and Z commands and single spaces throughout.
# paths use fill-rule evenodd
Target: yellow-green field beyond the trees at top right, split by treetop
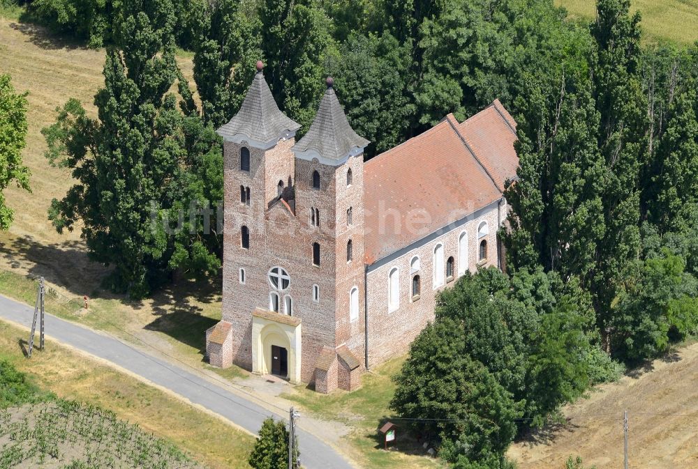
M 555 0 L 572 17 L 588 20 L 596 16 L 595 0 Z M 632 0 L 633 11 L 642 15 L 646 41 L 673 40 L 695 43 L 698 40 L 698 0 Z

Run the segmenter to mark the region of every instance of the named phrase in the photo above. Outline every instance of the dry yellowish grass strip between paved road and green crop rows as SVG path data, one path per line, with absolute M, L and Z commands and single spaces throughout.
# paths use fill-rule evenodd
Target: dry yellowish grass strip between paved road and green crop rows
M 0 357 L 9 359 L 43 389 L 112 410 L 117 417 L 172 441 L 210 468 L 249 468 L 247 456 L 254 438 L 248 433 L 51 340 L 45 351 L 35 351 L 27 360 L 19 345 L 26 338 L 26 330 L 0 323 Z

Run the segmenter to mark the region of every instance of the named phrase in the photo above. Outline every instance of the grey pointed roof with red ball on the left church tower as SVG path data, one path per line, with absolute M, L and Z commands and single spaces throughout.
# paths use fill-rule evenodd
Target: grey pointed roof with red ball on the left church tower
M 257 74 L 252 81 L 240 110 L 230 122 L 216 132 L 227 141 L 247 144 L 262 149 L 271 148 L 281 139 L 294 137 L 301 128 L 288 118 L 274 101 L 272 91 L 264 78 L 262 61 L 257 62 Z

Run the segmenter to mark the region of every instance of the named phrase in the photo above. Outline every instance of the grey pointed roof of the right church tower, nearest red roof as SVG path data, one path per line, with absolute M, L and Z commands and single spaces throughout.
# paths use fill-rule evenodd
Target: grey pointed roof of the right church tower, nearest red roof
M 337 166 L 350 156 L 360 155 L 369 143 L 349 125 L 334 93 L 334 80 L 327 77 L 327 91 L 320 101 L 318 114 L 308 133 L 291 150 L 302 160 L 318 158 L 322 164 Z

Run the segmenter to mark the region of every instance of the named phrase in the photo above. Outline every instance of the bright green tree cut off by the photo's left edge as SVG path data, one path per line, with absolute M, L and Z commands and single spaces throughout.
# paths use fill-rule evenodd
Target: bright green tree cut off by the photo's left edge
M 27 92 L 15 93 L 10 75 L 0 75 L 0 230 L 10 228 L 14 212 L 2 191 L 10 183 L 29 190 L 29 168 L 22 165 L 27 143 Z

